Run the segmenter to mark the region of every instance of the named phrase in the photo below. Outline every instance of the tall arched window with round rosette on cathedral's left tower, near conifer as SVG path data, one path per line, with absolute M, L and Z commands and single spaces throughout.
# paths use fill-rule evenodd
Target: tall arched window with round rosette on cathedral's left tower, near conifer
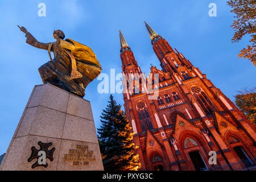
M 144 102 L 138 102 L 137 111 L 139 115 L 139 120 L 141 121 L 142 131 L 146 131 L 146 129 L 153 129 L 151 119 L 148 114 L 146 104 Z

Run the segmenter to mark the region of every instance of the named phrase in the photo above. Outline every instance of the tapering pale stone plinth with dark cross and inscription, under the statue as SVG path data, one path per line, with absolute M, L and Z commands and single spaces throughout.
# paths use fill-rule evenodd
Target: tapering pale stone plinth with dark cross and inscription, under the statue
M 32 168 L 38 142 L 52 143 L 53 160 Z M 51 84 L 35 86 L 0 170 L 104 170 L 90 102 Z

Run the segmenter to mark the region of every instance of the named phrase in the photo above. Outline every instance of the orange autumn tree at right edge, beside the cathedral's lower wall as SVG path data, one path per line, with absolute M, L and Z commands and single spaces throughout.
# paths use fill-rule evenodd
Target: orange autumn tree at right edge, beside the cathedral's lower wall
M 236 106 L 256 126 L 256 88 L 243 89 L 235 96 Z

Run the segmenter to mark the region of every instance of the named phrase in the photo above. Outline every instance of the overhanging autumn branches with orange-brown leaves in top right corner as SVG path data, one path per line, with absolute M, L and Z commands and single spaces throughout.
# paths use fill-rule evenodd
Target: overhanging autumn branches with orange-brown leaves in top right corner
M 236 14 L 232 24 L 235 33 L 232 43 L 239 42 L 243 36 L 251 36 L 251 45 L 243 48 L 238 57 L 247 58 L 256 66 L 256 2 L 255 0 L 229 0 L 231 12 Z

